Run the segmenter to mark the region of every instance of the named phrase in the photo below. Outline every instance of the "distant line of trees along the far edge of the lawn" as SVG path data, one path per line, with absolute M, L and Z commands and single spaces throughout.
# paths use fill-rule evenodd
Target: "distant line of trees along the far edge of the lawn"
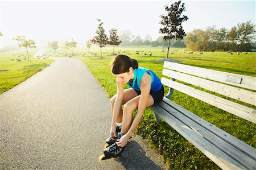
M 168 47 L 168 40 L 159 36 L 152 40 L 150 35 L 144 39 L 134 35 L 129 30 L 119 32 L 119 38 L 125 46 L 150 45 L 152 47 Z M 170 47 L 187 47 L 192 51 L 251 51 L 255 47 L 255 25 L 251 22 L 238 23 L 230 30 L 217 29 L 215 26 L 206 30 L 195 29 L 188 32 L 182 40 L 171 39 Z

